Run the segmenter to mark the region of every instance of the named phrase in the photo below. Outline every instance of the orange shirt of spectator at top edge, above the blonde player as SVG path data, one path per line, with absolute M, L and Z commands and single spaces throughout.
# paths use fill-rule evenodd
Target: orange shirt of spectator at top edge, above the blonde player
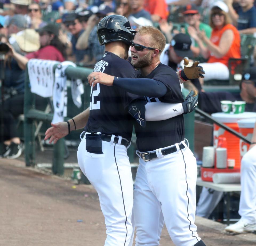
M 165 0 L 144 0 L 144 9 L 151 15 L 158 15 L 161 19 L 167 19 L 168 7 Z

